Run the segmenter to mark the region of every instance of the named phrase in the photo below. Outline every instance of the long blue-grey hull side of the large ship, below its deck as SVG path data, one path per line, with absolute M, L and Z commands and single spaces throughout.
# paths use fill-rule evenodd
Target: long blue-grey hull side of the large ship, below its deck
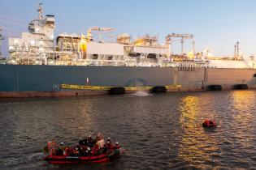
M 239 84 L 256 87 L 255 69 L 0 65 L 0 97 L 80 96 L 106 91 L 62 89 L 61 84 L 102 87 L 181 85 L 167 91 L 200 91 L 212 85 L 223 90 Z M 244 86 L 241 86 L 244 87 Z

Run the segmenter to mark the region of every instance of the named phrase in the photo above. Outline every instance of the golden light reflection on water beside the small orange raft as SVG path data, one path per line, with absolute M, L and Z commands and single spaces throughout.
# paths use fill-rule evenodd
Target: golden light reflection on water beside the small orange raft
M 212 130 L 203 130 L 201 126 L 203 100 L 198 96 L 185 96 L 180 103 L 180 126 L 182 127 L 182 139 L 178 159 L 183 159 L 186 164 L 194 168 L 211 168 L 204 162 L 213 163 L 210 155 L 215 154 L 219 147 L 214 138 Z

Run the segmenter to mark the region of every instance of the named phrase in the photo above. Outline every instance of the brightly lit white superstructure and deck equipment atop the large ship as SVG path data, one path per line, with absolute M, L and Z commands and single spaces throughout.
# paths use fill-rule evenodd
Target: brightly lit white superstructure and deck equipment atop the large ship
M 206 56 L 203 53 L 196 53 L 192 34 L 168 34 L 164 45 L 158 43 L 158 36 L 132 38 L 128 33 L 119 34 L 116 42 L 113 42 L 114 36 L 111 33 L 114 28 L 92 27 L 86 35 L 62 33 L 54 39 L 54 15 L 43 15 L 41 4 L 37 11 L 38 18 L 28 24 L 28 32 L 22 32 L 20 38 L 9 38 L 10 63 L 254 68 L 254 58 L 245 62 L 238 56 L 238 44 L 235 57 L 210 59 L 208 52 Z M 108 36 L 109 40 L 104 40 L 103 36 Z M 184 53 L 183 47 L 184 40 L 187 39 L 192 40 L 193 45 L 188 55 Z M 171 49 L 172 43 L 176 40 L 180 40 L 179 55 L 173 54 Z

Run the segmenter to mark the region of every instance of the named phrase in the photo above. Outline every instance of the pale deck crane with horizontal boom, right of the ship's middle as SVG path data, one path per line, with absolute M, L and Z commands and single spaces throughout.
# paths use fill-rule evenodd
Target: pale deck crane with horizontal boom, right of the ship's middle
M 168 45 L 168 55 L 169 55 L 169 57 L 171 55 L 171 42 L 173 41 L 172 39 L 174 39 L 174 38 L 180 38 L 181 55 L 183 55 L 183 53 L 184 53 L 184 50 L 183 50 L 184 40 L 186 40 L 186 39 L 193 39 L 193 35 L 192 34 L 176 34 L 176 33 L 168 34 L 166 36 L 166 43 Z M 194 41 L 193 41 L 193 43 L 194 43 Z

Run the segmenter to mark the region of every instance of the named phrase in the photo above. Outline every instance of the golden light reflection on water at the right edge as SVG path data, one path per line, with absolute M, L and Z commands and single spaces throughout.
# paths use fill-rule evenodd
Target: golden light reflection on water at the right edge
M 232 153 L 237 155 L 241 150 L 247 151 L 245 155 L 251 155 L 249 150 L 255 149 L 255 118 L 254 105 L 256 96 L 254 91 L 231 91 L 229 93 L 232 104 L 232 124 L 238 125 L 229 127 L 229 142 L 236 143 L 236 147 L 232 147 Z M 241 161 L 241 159 L 235 159 Z

